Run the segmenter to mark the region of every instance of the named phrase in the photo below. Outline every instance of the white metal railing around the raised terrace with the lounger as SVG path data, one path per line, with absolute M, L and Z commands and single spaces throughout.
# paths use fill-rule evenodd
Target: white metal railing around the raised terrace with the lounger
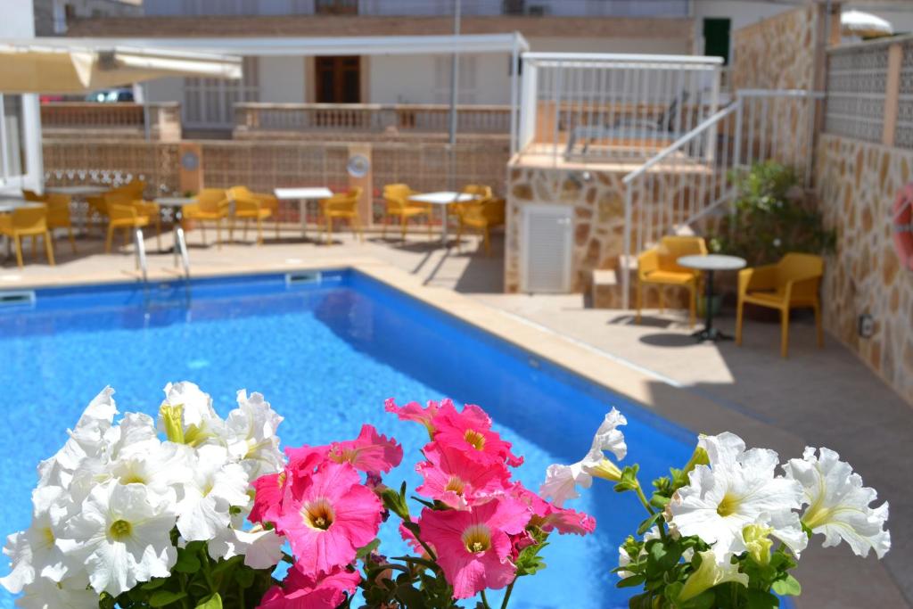
M 721 58 L 524 53 L 515 150 L 563 162 L 648 159 L 713 115 Z M 712 133 L 704 134 L 708 145 Z

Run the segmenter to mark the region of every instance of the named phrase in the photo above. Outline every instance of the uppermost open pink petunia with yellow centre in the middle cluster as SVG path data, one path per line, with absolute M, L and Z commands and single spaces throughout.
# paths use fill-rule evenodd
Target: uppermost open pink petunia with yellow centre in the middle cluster
M 441 404 L 432 425 L 434 440 L 441 446 L 458 448 L 488 465 L 507 461 L 509 466 L 519 467 L 523 463 L 522 457 L 510 452 L 510 443 L 491 431 L 491 419 L 475 404 L 466 404 L 463 412 L 457 412 L 453 403 Z

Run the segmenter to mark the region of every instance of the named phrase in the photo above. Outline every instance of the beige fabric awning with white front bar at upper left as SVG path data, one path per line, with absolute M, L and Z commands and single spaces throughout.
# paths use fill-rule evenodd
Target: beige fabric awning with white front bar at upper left
M 0 41 L 0 93 L 83 93 L 170 76 L 241 78 L 241 58 L 153 47 Z

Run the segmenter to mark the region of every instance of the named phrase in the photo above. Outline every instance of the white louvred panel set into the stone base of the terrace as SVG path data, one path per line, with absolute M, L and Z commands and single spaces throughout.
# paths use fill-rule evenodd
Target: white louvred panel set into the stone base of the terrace
M 520 214 L 520 290 L 571 291 L 573 208 L 524 205 Z

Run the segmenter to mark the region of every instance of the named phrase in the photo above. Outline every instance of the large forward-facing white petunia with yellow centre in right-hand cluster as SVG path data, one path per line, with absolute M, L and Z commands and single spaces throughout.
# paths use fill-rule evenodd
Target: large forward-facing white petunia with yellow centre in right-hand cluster
M 702 438 L 709 466 L 699 465 L 669 502 L 670 526 L 682 535 L 697 535 L 713 545 L 717 562 L 746 551 L 742 530 L 750 524 L 771 528 L 771 534 L 798 555 L 807 543 L 797 515 L 802 487 L 775 476 L 777 454 L 745 450 L 739 436 L 725 433 Z

